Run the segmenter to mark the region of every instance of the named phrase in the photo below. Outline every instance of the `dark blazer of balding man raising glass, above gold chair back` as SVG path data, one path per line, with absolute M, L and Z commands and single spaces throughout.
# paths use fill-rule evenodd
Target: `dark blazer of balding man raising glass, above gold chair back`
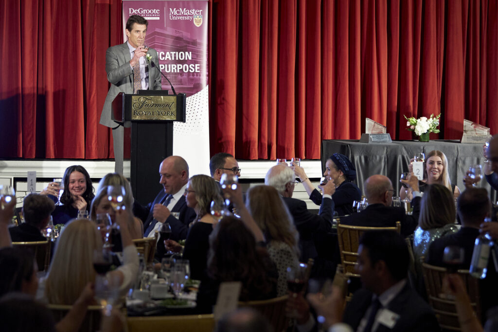
M 410 216 L 405 214 L 404 208 L 372 204 L 362 212 L 342 218 L 341 223 L 363 227 L 394 227 L 396 221 L 400 221 L 401 234 L 406 237 L 413 234 L 413 231 L 417 228 L 420 214 L 420 197 L 413 198 L 411 206 L 413 207 L 413 214 Z

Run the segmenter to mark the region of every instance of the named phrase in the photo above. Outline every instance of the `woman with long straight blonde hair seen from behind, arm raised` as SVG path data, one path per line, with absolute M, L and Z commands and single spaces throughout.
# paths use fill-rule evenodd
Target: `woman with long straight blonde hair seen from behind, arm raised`
M 116 278 L 125 290 L 134 282 L 138 273 L 138 253 L 131 241 L 127 218 L 120 210 L 116 222 L 121 227 L 123 242 L 123 265 L 108 275 Z M 95 282 L 93 267 L 94 250 L 102 250 L 102 238 L 95 222 L 87 219 L 70 221 L 61 232 L 55 253 L 44 280 L 44 298 L 51 304 L 72 305 L 85 286 Z

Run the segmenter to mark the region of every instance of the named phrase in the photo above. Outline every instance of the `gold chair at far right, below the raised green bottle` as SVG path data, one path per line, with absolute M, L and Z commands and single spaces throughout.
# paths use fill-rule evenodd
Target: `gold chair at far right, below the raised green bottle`
M 448 297 L 442 290 L 443 278 L 446 268 L 422 263 L 422 274 L 425 281 L 425 289 L 429 305 L 436 314 L 439 326 L 442 330 L 462 331 L 458 321 L 455 300 Z M 458 270 L 458 275 L 463 279 L 469 294 L 472 309 L 481 320 L 481 297 L 479 279 L 472 277 L 469 270 Z

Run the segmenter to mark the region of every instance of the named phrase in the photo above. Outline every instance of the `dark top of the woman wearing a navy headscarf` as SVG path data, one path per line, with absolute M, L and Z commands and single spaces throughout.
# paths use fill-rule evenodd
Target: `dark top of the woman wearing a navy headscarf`
M 336 188 L 332 200 L 334 200 L 335 211 L 338 216 L 351 215 L 353 213 L 353 201 L 359 201 L 362 192 L 353 182 L 344 181 Z M 322 195 L 318 190 L 311 192 L 310 200 L 316 205 L 322 204 Z

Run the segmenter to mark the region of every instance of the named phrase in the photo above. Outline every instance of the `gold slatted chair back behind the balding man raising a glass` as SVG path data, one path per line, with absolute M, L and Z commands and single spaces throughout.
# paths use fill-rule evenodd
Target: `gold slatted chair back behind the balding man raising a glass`
M 396 221 L 395 227 L 361 227 L 343 225 L 337 222 L 337 238 L 339 240 L 339 250 L 341 254 L 341 264 L 346 277 L 360 277 L 355 273 L 355 265 L 358 258 L 358 247 L 360 238 L 366 231 L 392 230 L 398 234 L 401 231 L 401 223 Z

